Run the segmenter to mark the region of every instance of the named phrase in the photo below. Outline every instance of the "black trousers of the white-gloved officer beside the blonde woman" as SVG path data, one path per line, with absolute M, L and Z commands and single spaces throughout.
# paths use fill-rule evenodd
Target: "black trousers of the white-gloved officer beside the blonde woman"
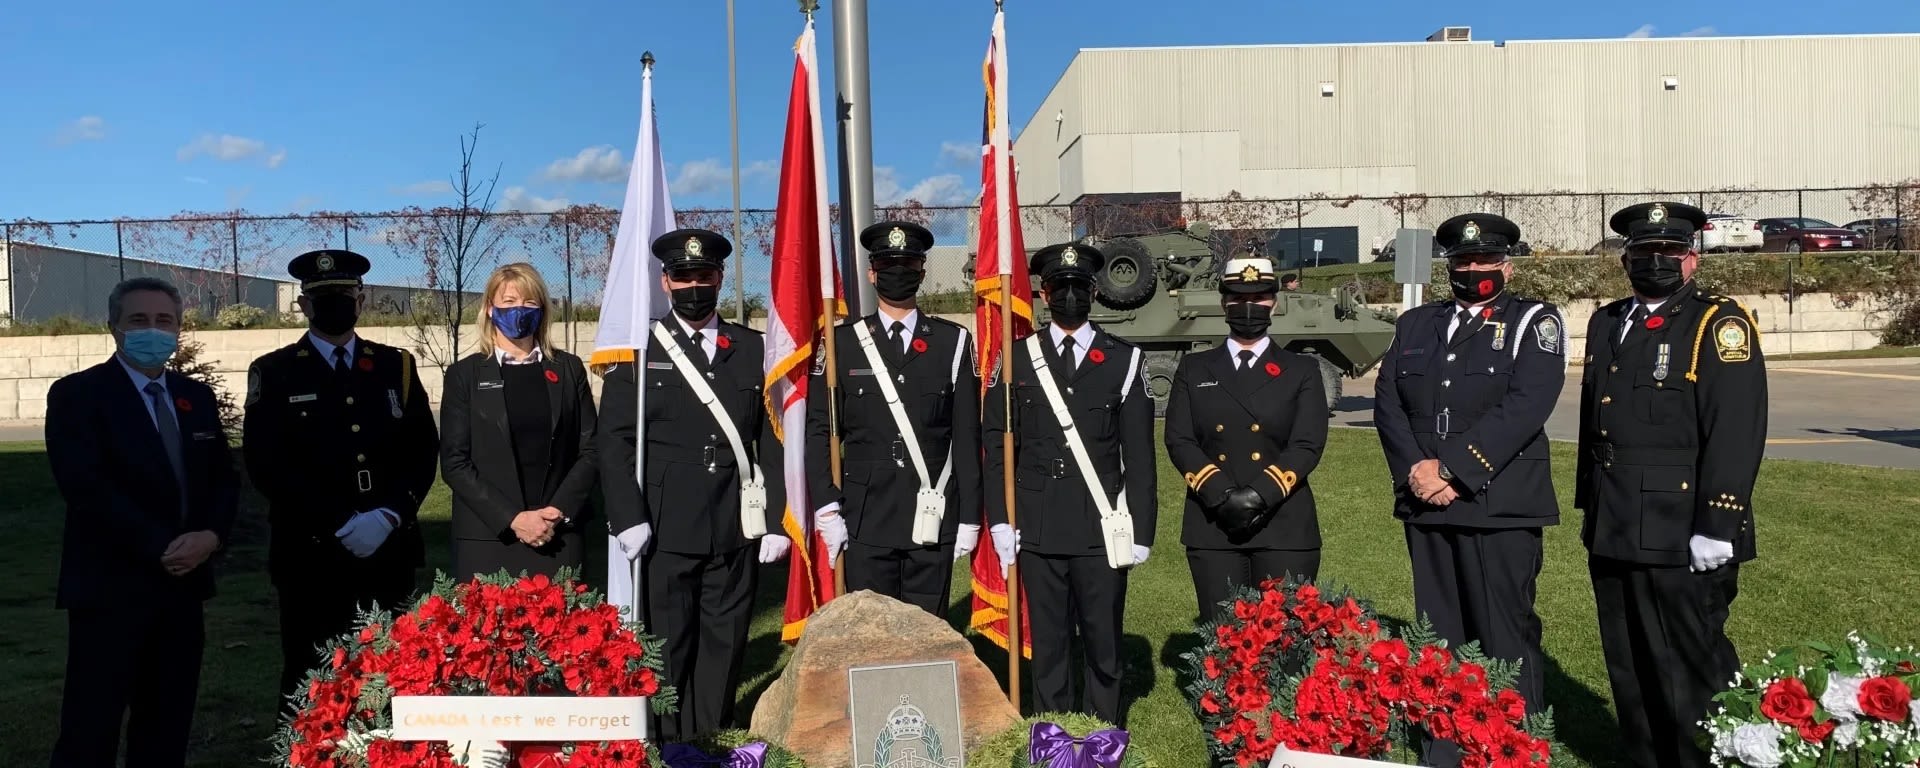
M 342 549 L 340 557 L 353 555 Z M 413 566 L 403 563 L 384 559 L 357 568 L 317 568 L 290 574 L 275 586 L 280 597 L 280 710 L 301 693 L 307 672 L 321 666 L 321 647 L 351 632 L 361 611 L 378 605 L 401 612 L 413 605 Z

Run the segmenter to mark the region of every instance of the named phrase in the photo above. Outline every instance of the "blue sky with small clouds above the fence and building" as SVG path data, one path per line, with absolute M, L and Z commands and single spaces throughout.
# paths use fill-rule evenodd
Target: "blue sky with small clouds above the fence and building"
M 616 205 L 641 50 L 659 58 L 676 207 L 730 204 L 722 0 L 10 6 L 0 221 L 440 205 L 459 136 L 476 121 L 486 123 L 480 163 L 499 167 L 503 204 Z M 831 0 L 824 6 L 831 104 Z M 870 6 L 876 194 L 970 200 L 993 4 Z M 770 207 L 803 17 L 793 0 L 737 0 L 735 13 L 743 205 Z M 1442 25 L 1471 25 L 1480 40 L 1914 33 L 1920 2 L 1010 0 L 1014 125 L 1079 48 L 1421 40 Z

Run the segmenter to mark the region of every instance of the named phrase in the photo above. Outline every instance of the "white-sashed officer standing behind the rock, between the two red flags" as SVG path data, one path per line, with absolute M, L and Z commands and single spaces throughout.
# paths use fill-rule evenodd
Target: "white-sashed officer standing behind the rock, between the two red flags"
M 979 372 L 973 334 L 925 315 L 916 296 L 927 275 L 933 232 L 906 221 L 881 221 L 860 232 L 868 250 L 866 278 L 879 307 L 833 328 L 839 390 L 841 476 L 831 476 L 829 397 L 810 397 L 806 453 L 810 497 L 828 549 L 839 555 L 847 591 L 872 589 L 947 616 L 952 564 L 979 543 Z M 868 359 L 856 326 L 864 324 L 879 357 Z M 883 382 L 885 380 L 885 382 Z M 891 384 L 906 420 L 887 405 Z M 828 392 L 826 346 L 814 359 L 808 392 Z M 945 509 L 916 540 L 920 472 L 908 440 L 920 445 L 931 490 Z M 948 463 L 952 468 L 948 470 Z M 945 476 L 945 482 L 941 478 Z M 837 482 L 835 482 L 837 480 Z M 962 522 L 966 520 L 966 522 Z

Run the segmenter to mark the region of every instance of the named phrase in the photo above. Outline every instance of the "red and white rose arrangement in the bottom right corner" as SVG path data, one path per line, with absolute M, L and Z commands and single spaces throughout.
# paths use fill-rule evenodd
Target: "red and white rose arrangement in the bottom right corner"
M 1716 766 L 1920 764 L 1920 651 L 1847 634 L 1768 653 L 1701 722 Z M 1849 762 L 1851 760 L 1851 762 Z

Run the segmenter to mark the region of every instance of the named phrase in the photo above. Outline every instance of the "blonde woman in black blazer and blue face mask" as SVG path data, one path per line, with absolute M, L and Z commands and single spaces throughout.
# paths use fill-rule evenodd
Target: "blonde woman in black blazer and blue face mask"
M 593 396 L 580 357 L 555 349 L 547 284 L 528 263 L 493 271 L 480 351 L 447 369 L 440 474 L 453 490 L 453 574 L 553 576 L 586 564 L 599 482 Z

